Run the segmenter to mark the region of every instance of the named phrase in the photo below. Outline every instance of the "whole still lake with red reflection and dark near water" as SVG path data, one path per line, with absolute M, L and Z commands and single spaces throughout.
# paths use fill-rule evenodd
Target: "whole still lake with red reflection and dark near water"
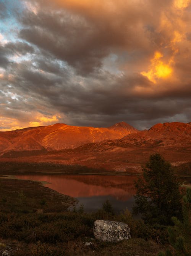
M 23 180 L 48 182 L 46 187 L 70 195 L 83 203 L 85 211 L 96 211 L 108 199 L 115 212 L 132 210 L 136 175 L 16 175 Z

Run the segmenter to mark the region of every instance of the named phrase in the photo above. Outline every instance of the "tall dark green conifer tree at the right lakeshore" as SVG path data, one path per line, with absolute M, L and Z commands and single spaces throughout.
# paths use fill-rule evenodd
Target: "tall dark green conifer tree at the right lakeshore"
M 141 213 L 149 224 L 171 224 L 172 216 L 181 219 L 179 183 L 170 163 L 160 154 L 154 154 L 142 172 L 143 177 L 135 182 L 137 192 L 134 213 Z

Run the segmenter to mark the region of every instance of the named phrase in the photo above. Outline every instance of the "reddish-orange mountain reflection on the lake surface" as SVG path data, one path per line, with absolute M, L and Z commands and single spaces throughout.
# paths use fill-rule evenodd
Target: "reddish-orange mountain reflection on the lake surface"
M 47 181 L 46 187 L 71 197 L 94 197 L 110 195 L 126 201 L 134 195 L 134 175 L 17 175 L 24 180 Z

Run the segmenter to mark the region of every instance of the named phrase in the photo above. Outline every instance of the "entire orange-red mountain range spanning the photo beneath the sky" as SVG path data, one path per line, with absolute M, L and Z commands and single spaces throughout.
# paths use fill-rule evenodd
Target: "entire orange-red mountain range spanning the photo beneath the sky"
M 108 128 L 54 124 L 0 132 L 1 161 L 139 172 L 155 152 L 175 166 L 190 163 L 191 122 L 156 124 L 143 131 L 120 122 Z

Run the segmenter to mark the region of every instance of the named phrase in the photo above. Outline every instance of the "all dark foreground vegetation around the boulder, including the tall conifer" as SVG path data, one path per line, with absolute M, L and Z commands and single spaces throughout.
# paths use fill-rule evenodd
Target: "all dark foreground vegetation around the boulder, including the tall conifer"
M 139 220 L 127 209 L 115 214 L 108 200 L 97 212 L 85 213 L 74 198 L 39 182 L 0 178 L 0 255 L 11 246 L 15 256 L 191 256 L 191 189 L 182 206 L 177 178 L 159 154 L 151 155 L 135 186 Z M 97 219 L 128 224 L 132 239 L 96 241 Z

